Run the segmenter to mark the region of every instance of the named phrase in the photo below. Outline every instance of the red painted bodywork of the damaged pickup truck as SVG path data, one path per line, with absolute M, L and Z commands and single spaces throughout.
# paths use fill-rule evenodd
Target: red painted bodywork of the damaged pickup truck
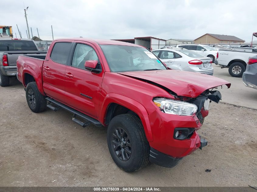
M 97 74 L 53 62 L 50 59 L 50 53 L 56 42 L 79 42 L 90 45 L 99 57 L 102 71 Z M 161 112 L 153 103 L 153 98 L 158 96 L 175 99 L 175 97 L 158 86 L 138 79 L 160 84 L 178 96 L 184 96 L 185 100 L 187 97 L 199 96 L 206 89 L 224 84 L 230 87 L 230 83 L 214 76 L 177 70 L 110 72 L 99 44 L 140 47 L 111 40 L 83 38 L 55 40 L 50 45 L 45 61 L 19 56 L 18 78 L 26 87 L 25 73 L 32 75 L 40 93 L 99 120 L 104 126 L 106 126 L 106 112 L 111 103 L 127 107 L 137 113 L 141 119 L 150 146 L 172 157 L 184 157 L 199 148 L 200 137 L 196 131 L 190 139 L 173 139 L 175 128 L 200 129 L 201 123 L 196 115 L 179 116 Z M 80 93 L 92 97 L 92 99 L 82 96 Z M 207 113 L 205 112 L 203 115 L 207 115 Z

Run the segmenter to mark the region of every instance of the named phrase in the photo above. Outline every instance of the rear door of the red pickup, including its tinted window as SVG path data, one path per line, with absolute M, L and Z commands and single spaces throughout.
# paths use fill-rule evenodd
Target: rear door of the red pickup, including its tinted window
M 47 54 L 42 69 L 44 92 L 47 96 L 61 103 L 65 103 L 65 69 L 67 67 L 72 42 L 73 41 L 55 42 L 48 50 L 51 54 Z

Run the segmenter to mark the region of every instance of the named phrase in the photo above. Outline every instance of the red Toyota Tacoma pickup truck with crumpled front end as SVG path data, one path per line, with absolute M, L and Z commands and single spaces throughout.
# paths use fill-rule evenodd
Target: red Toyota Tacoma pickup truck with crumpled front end
M 152 52 L 126 42 L 54 40 L 43 59 L 19 56 L 19 81 L 30 109 L 73 113 L 83 127 L 106 126 L 109 152 L 133 172 L 150 161 L 173 167 L 207 145 L 196 132 L 208 115 L 214 88 L 230 83 L 200 73 L 169 70 Z

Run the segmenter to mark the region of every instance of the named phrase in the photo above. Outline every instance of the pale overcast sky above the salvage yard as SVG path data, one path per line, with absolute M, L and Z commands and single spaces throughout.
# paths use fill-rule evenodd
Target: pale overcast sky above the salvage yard
M 23 4 L 24 3 L 24 4 Z M 26 35 L 24 6 L 33 36 L 133 39 L 196 39 L 205 33 L 234 35 L 246 42 L 257 32 L 256 0 L 16 0 L 1 2 L 0 25 Z M 254 40 L 257 40 L 255 38 Z

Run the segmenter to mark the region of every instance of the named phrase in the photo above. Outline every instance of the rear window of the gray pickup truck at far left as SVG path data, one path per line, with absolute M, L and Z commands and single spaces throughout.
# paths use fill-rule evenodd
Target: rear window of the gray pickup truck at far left
M 37 47 L 33 41 L 1 40 L 0 51 L 37 51 Z

